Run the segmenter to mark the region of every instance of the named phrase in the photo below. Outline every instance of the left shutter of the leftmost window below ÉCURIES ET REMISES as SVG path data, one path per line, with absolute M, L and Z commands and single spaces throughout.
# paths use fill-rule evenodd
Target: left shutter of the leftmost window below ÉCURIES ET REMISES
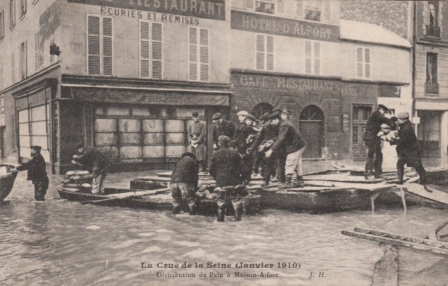
M 87 16 L 87 73 L 101 74 L 99 43 L 99 16 Z

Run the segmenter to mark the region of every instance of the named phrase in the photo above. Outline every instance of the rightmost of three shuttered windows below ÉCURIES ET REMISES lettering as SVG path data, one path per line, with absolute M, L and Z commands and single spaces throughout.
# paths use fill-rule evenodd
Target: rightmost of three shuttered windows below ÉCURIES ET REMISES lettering
M 188 79 L 209 81 L 209 29 L 188 27 Z

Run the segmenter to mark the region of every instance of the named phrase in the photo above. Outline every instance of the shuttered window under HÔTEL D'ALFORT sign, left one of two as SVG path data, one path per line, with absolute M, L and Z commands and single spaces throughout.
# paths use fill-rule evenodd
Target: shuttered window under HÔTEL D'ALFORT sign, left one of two
M 255 69 L 274 71 L 274 36 L 255 34 Z

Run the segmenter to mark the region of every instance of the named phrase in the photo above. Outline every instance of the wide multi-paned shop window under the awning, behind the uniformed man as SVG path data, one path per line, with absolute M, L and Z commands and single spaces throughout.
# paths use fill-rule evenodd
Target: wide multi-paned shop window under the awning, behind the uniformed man
M 188 148 L 191 113 L 204 109 L 104 106 L 95 115 L 95 146 L 118 162 L 179 158 Z M 206 122 L 204 122 L 206 123 Z

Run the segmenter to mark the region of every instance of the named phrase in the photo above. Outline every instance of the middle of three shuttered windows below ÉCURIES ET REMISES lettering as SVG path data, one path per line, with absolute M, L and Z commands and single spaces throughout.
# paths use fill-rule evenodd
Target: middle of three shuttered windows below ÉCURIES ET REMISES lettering
M 140 77 L 162 79 L 162 23 L 140 21 Z

